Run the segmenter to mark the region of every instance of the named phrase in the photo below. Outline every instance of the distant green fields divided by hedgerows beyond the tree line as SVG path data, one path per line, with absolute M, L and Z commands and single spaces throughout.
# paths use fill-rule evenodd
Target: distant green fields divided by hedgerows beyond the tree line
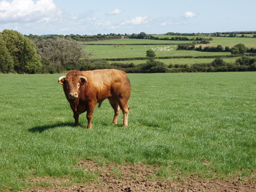
M 156 35 L 159 38 L 164 37 L 175 37 L 175 36 L 160 36 Z M 197 36 L 188 36 L 188 38 L 196 38 Z M 212 38 L 210 44 L 202 44 L 205 46 L 218 46 L 222 45 L 223 47 L 229 46 L 232 48 L 238 43 L 243 43 L 248 48 L 256 48 L 256 38 L 242 38 L 242 37 L 211 37 L 203 36 L 204 38 Z M 149 40 L 149 39 L 118 39 L 118 40 L 105 40 L 105 41 L 94 41 L 86 42 L 84 49 L 88 52 L 92 52 L 93 59 L 109 59 L 109 58 L 141 58 L 146 57 L 146 51 L 154 48 L 156 57 L 174 57 L 174 56 L 228 56 L 230 52 L 199 52 L 194 50 L 176 50 L 178 44 L 189 44 L 192 41 L 170 41 L 170 40 Z M 90 44 L 90 45 L 88 45 Z M 94 44 L 94 45 L 93 45 Z M 104 45 L 98 45 L 104 44 Z M 134 44 L 134 45 L 131 45 Z M 158 44 L 158 45 L 156 45 Z M 161 45 L 162 44 L 162 45 Z M 167 45 L 166 45 L 167 44 Z M 200 46 L 199 44 L 196 45 Z M 161 51 L 161 48 L 169 47 L 167 49 L 172 49 L 171 51 Z M 169 60 L 169 59 L 168 59 Z M 211 59 L 212 62 L 214 59 Z M 176 63 L 182 61 L 180 63 Z M 175 60 L 175 64 L 194 64 L 193 60 Z M 131 63 L 128 61 L 123 61 L 124 63 Z M 140 61 L 142 63 L 143 61 Z M 164 63 L 170 63 L 170 61 L 161 61 Z M 136 64 L 137 62 L 133 62 Z M 203 63 L 202 60 L 196 63 Z

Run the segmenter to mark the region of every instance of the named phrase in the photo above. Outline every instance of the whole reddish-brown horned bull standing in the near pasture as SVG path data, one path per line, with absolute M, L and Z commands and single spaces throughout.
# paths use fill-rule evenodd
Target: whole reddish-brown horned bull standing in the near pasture
M 94 71 L 72 70 L 59 78 L 63 85 L 66 98 L 74 113 L 75 124 L 78 125 L 79 115 L 87 112 L 87 128 L 92 128 L 92 115 L 97 103 L 99 107 L 108 98 L 114 109 L 113 124 L 117 124 L 120 110 L 124 114 L 124 126 L 128 126 L 128 99 L 130 98 L 130 81 L 126 73 L 116 69 Z

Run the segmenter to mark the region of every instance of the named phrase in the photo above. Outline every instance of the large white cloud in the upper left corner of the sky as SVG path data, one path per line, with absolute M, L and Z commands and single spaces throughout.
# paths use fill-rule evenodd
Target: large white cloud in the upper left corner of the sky
M 0 23 L 48 21 L 60 13 L 53 0 L 0 2 Z

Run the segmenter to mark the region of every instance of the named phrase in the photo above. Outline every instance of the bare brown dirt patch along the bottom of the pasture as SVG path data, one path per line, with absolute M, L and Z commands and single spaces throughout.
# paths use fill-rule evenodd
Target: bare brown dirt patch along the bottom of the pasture
M 33 186 L 22 192 L 256 192 L 256 180 L 252 177 L 207 180 L 195 174 L 168 180 L 158 176 L 161 167 L 154 165 L 111 163 L 100 166 L 93 160 L 84 160 L 77 166 L 98 178 L 73 186 L 64 186 L 71 179 L 33 178 L 34 184 L 48 182 L 51 185 Z

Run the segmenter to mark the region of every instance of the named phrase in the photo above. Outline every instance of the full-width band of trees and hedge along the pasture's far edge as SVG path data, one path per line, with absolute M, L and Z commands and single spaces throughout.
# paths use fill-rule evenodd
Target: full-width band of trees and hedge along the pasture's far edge
M 218 49 L 223 48 L 218 46 Z M 234 50 L 236 54 L 248 51 L 243 44 L 238 44 L 231 50 Z M 14 30 L 4 30 L 0 33 L 0 72 L 2 73 L 60 73 L 74 69 L 104 68 L 116 68 L 130 73 L 256 70 L 256 59 L 248 56 L 236 60 L 235 64 L 227 64 L 221 58 L 216 58 L 211 64 L 192 66 L 170 64 L 166 66 L 155 60 L 156 55 L 151 49 L 146 51 L 146 63 L 139 65 L 115 62 L 109 64 L 107 60 L 90 59 L 91 54 L 84 50 L 80 42 L 69 37 L 53 36 L 31 39 Z

